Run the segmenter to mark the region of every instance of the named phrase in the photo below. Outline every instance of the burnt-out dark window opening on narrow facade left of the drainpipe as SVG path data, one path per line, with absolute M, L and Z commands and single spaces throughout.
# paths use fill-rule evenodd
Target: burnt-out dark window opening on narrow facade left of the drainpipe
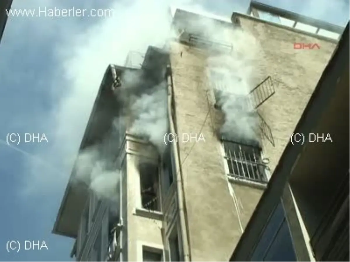
M 159 167 L 152 162 L 139 163 L 142 208 L 161 211 Z

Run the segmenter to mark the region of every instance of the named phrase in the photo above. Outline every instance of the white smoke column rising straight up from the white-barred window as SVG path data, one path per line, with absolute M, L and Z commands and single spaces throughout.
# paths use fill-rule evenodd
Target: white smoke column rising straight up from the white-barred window
M 221 39 L 225 40 L 225 35 Z M 231 44 L 230 52 L 209 59 L 208 76 L 225 117 L 221 135 L 250 143 L 258 140 L 259 123 L 249 93 L 258 75 L 254 64 L 259 45 L 253 36 L 239 29 L 232 32 Z

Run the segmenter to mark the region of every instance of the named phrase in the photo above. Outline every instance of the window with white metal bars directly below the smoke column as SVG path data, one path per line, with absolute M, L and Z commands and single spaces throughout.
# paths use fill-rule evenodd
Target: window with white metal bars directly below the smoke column
M 267 183 L 264 165 L 261 161 L 261 149 L 258 146 L 249 146 L 222 140 L 229 176 Z

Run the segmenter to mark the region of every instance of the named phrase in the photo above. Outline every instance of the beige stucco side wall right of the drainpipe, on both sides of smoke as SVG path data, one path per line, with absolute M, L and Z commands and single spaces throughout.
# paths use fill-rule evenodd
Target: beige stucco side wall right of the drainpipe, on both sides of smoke
M 268 75 L 275 82 L 275 95 L 259 108 L 275 141 L 275 147 L 265 139 L 262 141 L 264 157 L 270 159 L 273 172 L 335 43 L 246 17 L 241 18 L 241 26 L 255 36 L 260 48 L 254 65 L 255 84 Z M 321 49 L 294 50 L 294 42 L 317 42 Z M 262 190 L 233 185 L 239 203 L 239 210 L 236 209 L 214 134 L 217 112 L 208 99 L 205 52 L 174 42 L 171 62 L 178 135 L 195 134 L 202 129 L 205 137 L 205 142 L 179 141 L 192 259 L 225 262 L 241 235 L 239 220 L 243 227 L 247 224 Z

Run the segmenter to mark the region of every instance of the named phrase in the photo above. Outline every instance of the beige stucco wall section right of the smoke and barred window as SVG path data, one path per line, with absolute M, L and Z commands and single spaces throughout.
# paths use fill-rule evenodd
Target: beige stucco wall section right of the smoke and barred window
M 273 172 L 299 118 L 335 49 L 335 41 L 286 30 L 251 17 L 238 16 L 244 30 L 259 42 L 261 80 L 271 76 L 276 93 L 259 108 L 270 126 L 275 147 L 264 140 L 264 155 Z M 294 49 L 293 43 L 317 43 L 320 49 Z

